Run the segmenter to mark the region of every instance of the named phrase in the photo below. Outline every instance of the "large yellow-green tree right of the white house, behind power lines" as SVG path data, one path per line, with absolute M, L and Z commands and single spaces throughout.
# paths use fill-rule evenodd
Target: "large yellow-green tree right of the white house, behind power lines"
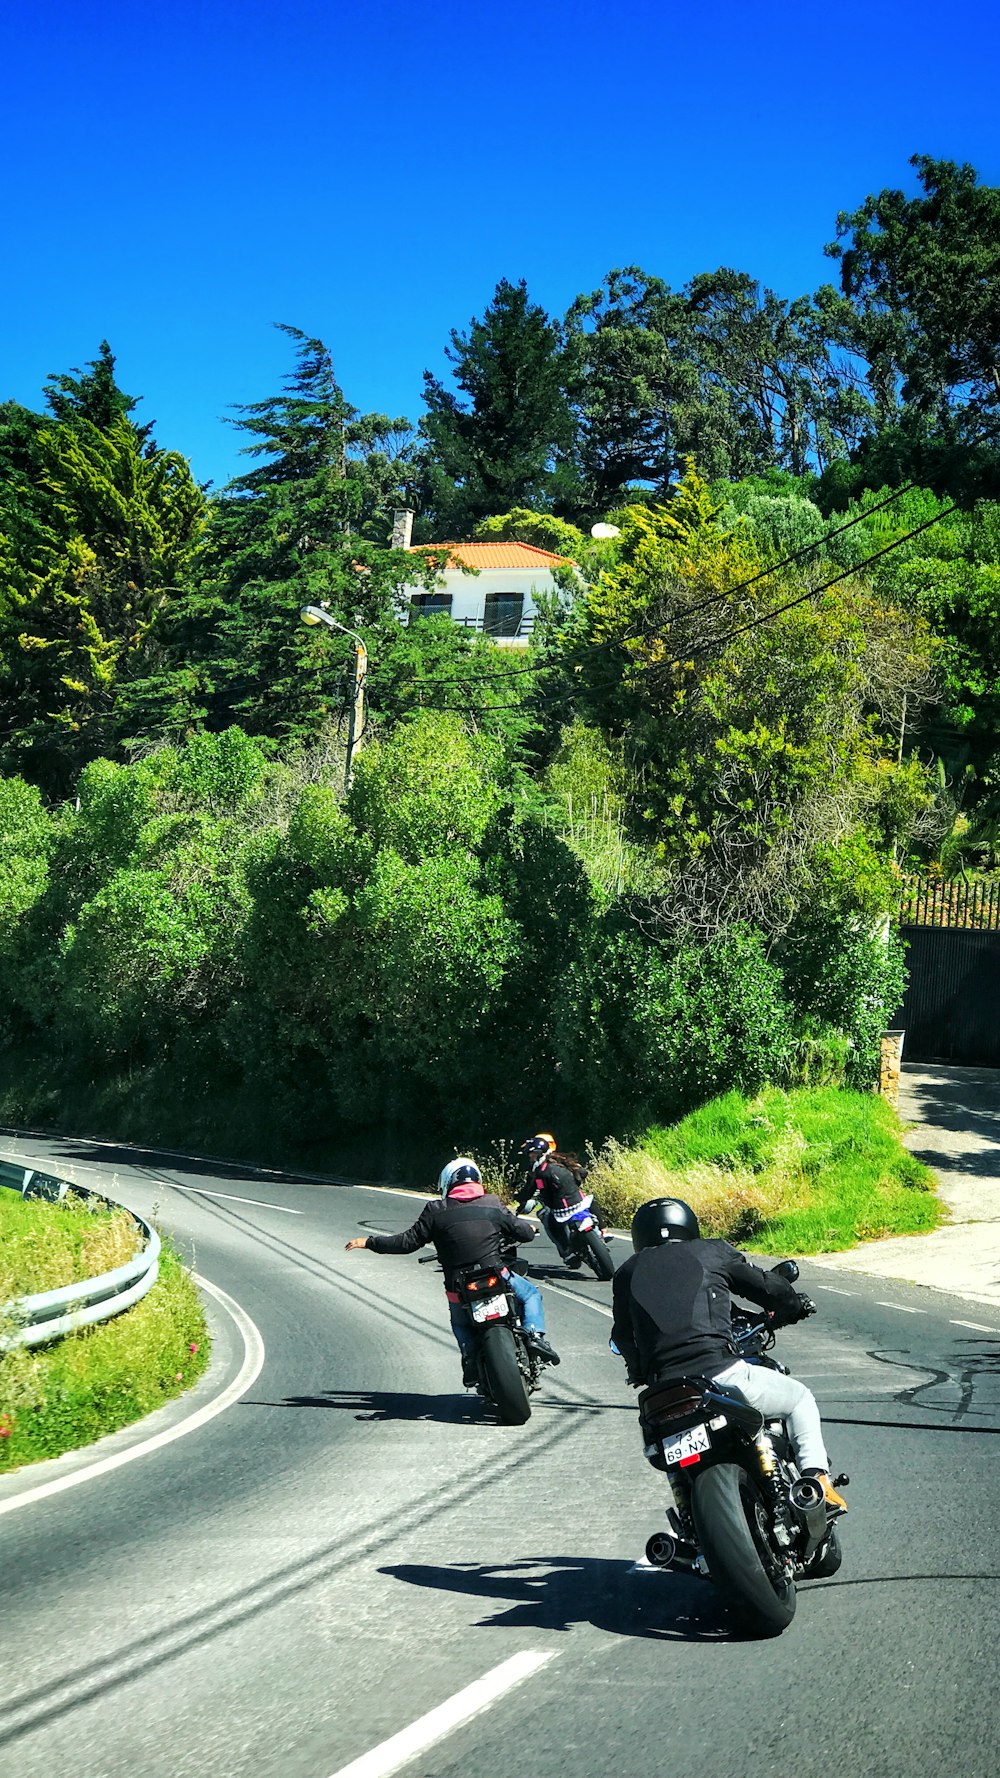
M 927 800 L 922 768 L 897 761 L 904 697 L 927 693 L 925 626 L 861 583 L 810 597 L 808 569 L 762 580 L 762 565 L 749 525 L 721 523 L 689 466 L 671 507 L 623 514 L 619 560 L 569 645 L 625 741 L 633 832 L 678 930 L 778 933 L 826 894 L 874 917 L 891 843 Z

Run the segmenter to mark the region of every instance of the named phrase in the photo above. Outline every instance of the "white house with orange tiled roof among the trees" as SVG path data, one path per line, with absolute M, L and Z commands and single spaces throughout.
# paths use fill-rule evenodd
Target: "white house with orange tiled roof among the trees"
M 507 647 L 525 647 L 534 629 L 539 594 L 559 592 L 553 569 L 571 567 L 568 557 L 534 544 L 472 542 L 407 546 L 441 549 L 448 567 L 432 592 L 407 587 L 407 621 L 431 612 L 447 612 L 456 624 L 479 629 Z M 454 564 L 454 565 L 452 565 Z M 475 569 L 475 574 L 463 573 Z

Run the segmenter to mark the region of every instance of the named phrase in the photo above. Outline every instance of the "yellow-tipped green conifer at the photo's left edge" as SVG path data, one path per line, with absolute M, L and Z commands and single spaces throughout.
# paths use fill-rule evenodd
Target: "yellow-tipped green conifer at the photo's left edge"
M 36 423 L 21 411 L 5 428 L 14 478 L 0 507 L 4 757 L 50 789 L 107 749 L 119 688 L 201 541 L 205 500 L 187 461 L 132 423 L 130 398 L 112 396 L 112 366 L 101 361 L 100 400 L 84 391 L 75 404 L 64 389 L 62 420 Z M 87 405 L 103 409 L 103 425 Z

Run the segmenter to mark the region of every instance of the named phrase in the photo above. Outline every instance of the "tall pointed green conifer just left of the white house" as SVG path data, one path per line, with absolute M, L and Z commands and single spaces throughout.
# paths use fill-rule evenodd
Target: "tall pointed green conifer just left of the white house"
M 253 468 L 212 501 L 201 573 L 164 613 L 158 654 L 121 701 L 123 736 L 238 722 L 254 734 L 315 740 L 343 709 L 351 642 L 306 633 L 301 608 L 327 603 L 377 654 L 397 638 L 402 587 L 434 580 L 420 557 L 386 546 L 384 528 L 383 546 L 358 535 L 379 528 L 375 480 L 351 450 L 384 444 L 399 423 L 359 416 L 322 340 L 281 331 L 295 364 L 279 395 L 233 420 Z M 379 461 L 388 475 L 384 452 Z

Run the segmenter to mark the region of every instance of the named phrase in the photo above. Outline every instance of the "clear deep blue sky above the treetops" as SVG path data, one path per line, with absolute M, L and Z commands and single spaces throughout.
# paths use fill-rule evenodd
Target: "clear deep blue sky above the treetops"
M 237 468 L 292 322 L 420 414 L 498 277 L 562 313 L 614 265 L 831 276 L 911 153 L 1000 183 L 1000 9 L 5 0 L 0 398 L 109 338 L 162 444 Z

